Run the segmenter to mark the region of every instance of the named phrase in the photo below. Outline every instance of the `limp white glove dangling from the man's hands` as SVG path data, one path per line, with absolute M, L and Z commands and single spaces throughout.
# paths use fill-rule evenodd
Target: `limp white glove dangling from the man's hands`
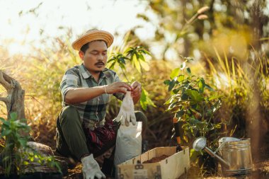
M 131 91 L 127 91 L 125 98 L 122 100 L 122 106 L 120 107 L 116 121 L 122 121 L 121 124 L 126 126 L 129 126 L 130 122 L 132 122 L 132 125 L 136 124 L 135 105 L 132 101 Z

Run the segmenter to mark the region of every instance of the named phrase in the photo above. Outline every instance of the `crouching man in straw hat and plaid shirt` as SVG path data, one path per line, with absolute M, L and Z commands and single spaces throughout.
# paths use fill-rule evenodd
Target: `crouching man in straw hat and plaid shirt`
M 72 47 L 79 51 L 82 64 L 68 69 L 60 84 L 64 108 L 57 118 L 57 152 L 81 161 L 87 179 L 105 178 L 93 156 L 115 144 L 118 127 L 104 120 L 109 98 L 122 100 L 131 91 L 137 103 L 142 91 L 139 82 L 124 83 L 115 71 L 105 68 L 112 43 L 113 35 L 103 30 L 88 30 L 79 37 Z M 146 127 L 142 112 L 135 112 L 135 117 Z

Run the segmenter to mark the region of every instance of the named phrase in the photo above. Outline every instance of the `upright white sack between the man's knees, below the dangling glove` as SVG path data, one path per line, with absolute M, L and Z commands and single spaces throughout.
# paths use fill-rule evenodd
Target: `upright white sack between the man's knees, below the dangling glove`
M 115 149 L 115 166 L 118 164 L 139 156 L 142 152 L 142 122 L 136 122 L 136 125 L 130 124 L 128 127 L 120 125 L 118 129 Z

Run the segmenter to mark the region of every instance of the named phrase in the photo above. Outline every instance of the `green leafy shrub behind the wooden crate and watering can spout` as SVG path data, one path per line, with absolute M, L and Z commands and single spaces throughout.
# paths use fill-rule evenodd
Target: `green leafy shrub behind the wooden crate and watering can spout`
M 214 114 L 222 105 L 222 96 L 214 91 L 202 76 L 192 74 L 188 61 L 184 58 L 181 67 L 173 69 L 170 80 L 164 81 L 171 92 L 171 98 L 166 101 L 168 111 L 174 113 L 182 126 L 183 136 L 186 143 L 192 143 L 197 137 L 206 137 L 210 141 L 210 147 L 217 146 L 216 139 L 221 133 L 222 122 L 214 119 Z M 199 153 L 191 149 L 191 158 L 196 160 Z M 205 158 L 202 156 L 202 163 Z

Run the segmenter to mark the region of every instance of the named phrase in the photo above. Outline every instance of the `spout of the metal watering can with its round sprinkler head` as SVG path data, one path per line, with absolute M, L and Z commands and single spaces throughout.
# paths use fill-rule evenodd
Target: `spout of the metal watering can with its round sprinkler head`
M 224 161 L 223 158 L 215 154 L 214 151 L 212 151 L 206 146 L 206 144 L 207 144 L 207 139 L 205 137 L 198 137 L 198 139 L 196 139 L 195 142 L 193 142 L 193 149 L 195 149 L 195 151 L 200 151 L 202 149 L 205 149 L 207 154 L 210 154 L 210 156 L 217 158 L 219 162 L 221 162 L 224 166 L 229 168 L 230 164 L 227 161 Z

